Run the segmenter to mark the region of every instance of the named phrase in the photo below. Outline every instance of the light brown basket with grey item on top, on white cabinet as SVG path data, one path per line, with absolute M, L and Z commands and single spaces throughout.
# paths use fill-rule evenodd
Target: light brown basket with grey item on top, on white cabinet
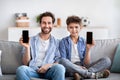
M 15 16 L 17 27 L 29 27 L 30 21 L 27 17 L 27 13 L 16 13 Z

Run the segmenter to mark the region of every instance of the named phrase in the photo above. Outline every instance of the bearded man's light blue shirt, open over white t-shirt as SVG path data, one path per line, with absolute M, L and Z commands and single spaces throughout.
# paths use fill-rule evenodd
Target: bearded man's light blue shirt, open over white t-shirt
M 31 52 L 31 61 L 29 63 L 29 66 L 33 68 L 34 70 L 37 70 L 39 66 L 35 66 L 34 64 L 36 63 L 37 59 L 37 54 L 39 53 L 39 34 L 36 36 L 33 36 L 30 38 L 30 52 Z M 48 46 L 48 50 L 45 53 L 45 58 L 43 59 L 42 64 L 48 64 L 48 63 L 54 63 L 57 62 L 57 60 L 60 57 L 59 53 L 59 40 L 55 39 L 53 36 L 50 36 L 50 44 Z M 24 53 L 25 50 L 22 51 Z M 40 65 L 42 66 L 42 65 Z

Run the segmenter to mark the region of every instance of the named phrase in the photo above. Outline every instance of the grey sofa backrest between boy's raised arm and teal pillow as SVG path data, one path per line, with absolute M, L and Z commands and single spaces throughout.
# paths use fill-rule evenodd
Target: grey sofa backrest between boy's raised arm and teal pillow
M 109 57 L 113 62 L 118 43 L 120 43 L 120 39 L 96 40 L 95 46 L 91 49 L 91 62 L 105 56 Z

